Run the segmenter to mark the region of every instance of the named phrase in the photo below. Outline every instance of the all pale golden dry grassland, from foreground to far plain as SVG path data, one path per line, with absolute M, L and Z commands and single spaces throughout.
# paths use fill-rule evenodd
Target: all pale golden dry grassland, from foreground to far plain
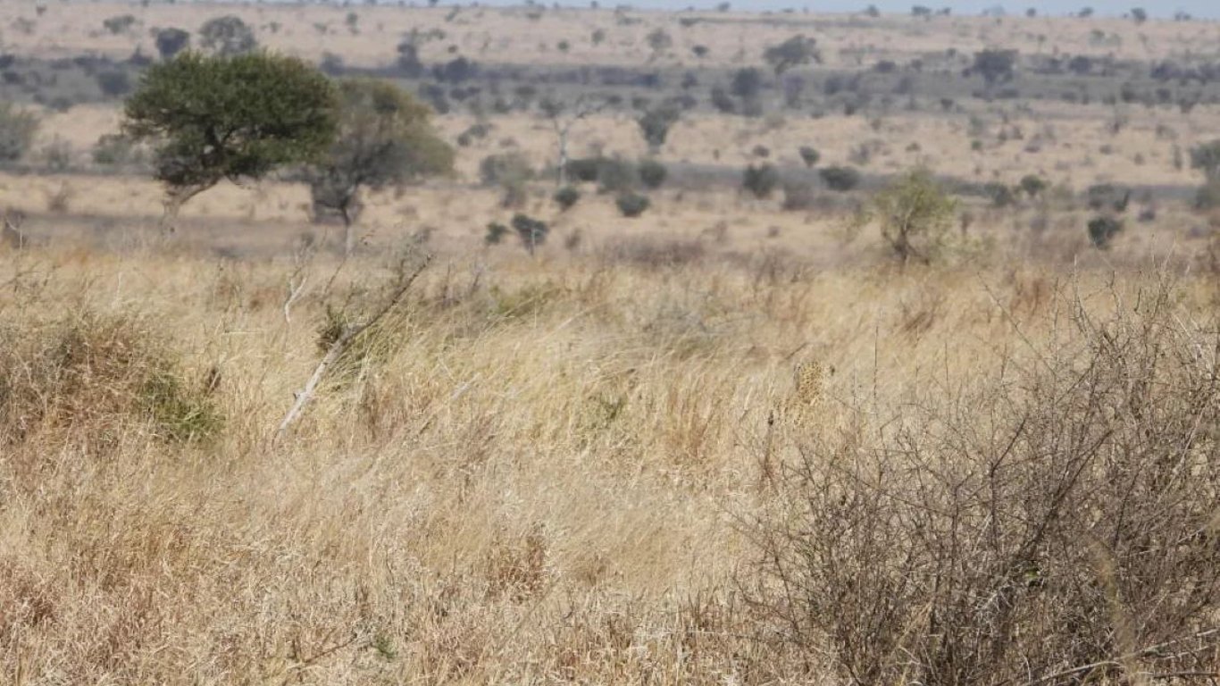
M 346 31 L 348 11 L 360 35 Z M 144 31 L 100 32 L 123 12 Z M 274 49 L 365 66 L 388 61 L 409 28 L 443 27 L 479 60 L 522 63 L 555 60 L 538 44 L 565 37 L 572 61 L 689 61 L 688 44 L 705 43 L 721 66 L 753 63 L 760 45 L 793 33 L 709 13 L 725 21 L 683 29 L 675 54 L 651 56 L 643 35 L 654 24 L 678 34 L 676 16 L 622 27 L 610 11 L 533 21 L 520 9 L 462 10 L 445 22 L 448 9 L 52 2 L 33 33 L 6 32 L 5 46 L 126 57 L 151 50 L 150 27 L 221 12 L 262 27 Z M 0 26 L 29 13 L 0 5 Z M 1214 45 L 1220 32 L 794 21 L 819 22 L 838 65 L 853 50 L 869 61 L 948 45 L 1033 52 L 1039 33 L 1076 52 L 1098 27 L 1122 37 L 1107 52 L 1149 59 Z M 600 46 L 587 40 L 597 27 L 610 34 Z M 428 49 L 426 60 L 444 59 L 442 44 Z M 45 115 L 43 143 L 67 142 L 84 167 L 120 121 L 109 105 Z M 966 114 L 894 112 L 876 125 L 705 115 L 683 120 L 660 159 L 742 167 L 765 144 L 795 164 L 810 144 L 833 164 L 876 139 L 886 153 L 869 171 L 878 173 L 922 164 L 1016 183 L 1038 172 L 1077 192 L 1199 183 L 1172 166 L 1171 145 L 1214 137 L 1215 106 L 1124 115 L 1115 138 L 1114 107 L 1032 104 L 1003 126 L 1041 132 L 1037 155 L 993 135 L 972 153 Z M 472 123 L 437 118 L 450 139 Z M 903 269 L 876 227 L 853 228 L 845 210 L 783 211 L 712 187 L 662 189 L 639 220 L 592 194 L 560 214 L 542 181 L 522 211 L 553 232 L 528 255 L 484 245 L 486 225 L 506 210 L 497 189 L 477 186 L 478 164 L 521 150 L 542 166 L 554 134 L 521 114 L 490 123 L 487 139 L 459 149 L 454 178 L 371 194 L 357 225 L 365 247 L 350 259 L 325 240 L 301 247 L 305 234 L 329 234 L 310 225 L 299 184 L 220 186 L 163 239 L 161 187 L 148 178 L 0 175 L 0 209 L 24 212 L 35 239 L 0 251 L 0 684 L 850 682 L 832 640 L 791 640 L 782 618 L 799 598 L 759 602 L 775 581 L 759 532 L 795 516 L 777 503 L 800 499 L 789 465 L 817 447 L 888 447 L 914 408 L 1036 376 L 1048 359 L 1109 341 L 1111 323 L 1144 321 L 1149 294 L 1166 294 L 1172 326 L 1197 347 L 1190 364 L 1211 370 L 1200 403 L 1220 403 L 1220 220 L 1187 203 L 1150 203 L 1155 220 L 1128 222 L 1108 251 L 1088 244 L 1091 212 L 1070 200 L 967 203 L 967 248 Z M 1105 144 L 1118 151 L 1103 154 Z M 634 122 L 609 116 L 575 129 L 573 155 L 592 149 L 647 150 Z M 66 206 L 49 205 L 57 194 Z M 1039 217 L 1047 226 L 1035 231 Z M 277 433 L 322 359 L 327 325 L 367 317 L 395 269 L 425 254 L 432 261 L 403 301 Z M 1091 338 L 1072 326 L 1089 317 L 1110 323 Z M 825 371 L 798 383 L 809 363 Z M 1020 397 L 963 411 L 985 426 Z M 1214 411 L 1199 416 L 1192 436 L 1210 437 L 1214 459 L 1220 426 L 1208 424 Z M 1128 621 L 1114 620 L 1124 649 Z M 1199 658 L 1209 669 L 1220 658 L 1211 649 Z

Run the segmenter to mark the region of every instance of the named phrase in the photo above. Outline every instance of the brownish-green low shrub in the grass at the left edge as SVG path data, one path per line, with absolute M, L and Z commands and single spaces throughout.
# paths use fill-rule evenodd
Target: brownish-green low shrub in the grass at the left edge
M 23 323 L 0 332 L 0 442 L 74 436 L 99 450 L 133 430 L 193 442 L 223 425 L 209 397 L 215 383 L 187 381 L 178 356 L 146 321 L 85 312 Z

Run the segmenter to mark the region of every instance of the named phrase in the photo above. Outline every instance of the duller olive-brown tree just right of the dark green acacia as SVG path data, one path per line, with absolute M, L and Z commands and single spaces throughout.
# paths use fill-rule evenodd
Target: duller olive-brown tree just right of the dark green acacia
M 338 89 L 338 135 L 306 173 L 315 210 L 343 218 L 348 253 L 362 188 L 448 173 L 454 150 L 433 131 L 432 110 L 393 83 L 361 78 L 344 81 Z

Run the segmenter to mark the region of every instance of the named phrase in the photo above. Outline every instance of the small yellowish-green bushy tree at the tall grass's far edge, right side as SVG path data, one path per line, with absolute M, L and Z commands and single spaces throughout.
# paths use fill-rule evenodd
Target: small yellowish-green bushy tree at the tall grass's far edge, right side
M 927 170 L 914 170 L 877 193 L 861 220 L 876 221 L 903 264 L 931 262 L 944 247 L 958 203 Z

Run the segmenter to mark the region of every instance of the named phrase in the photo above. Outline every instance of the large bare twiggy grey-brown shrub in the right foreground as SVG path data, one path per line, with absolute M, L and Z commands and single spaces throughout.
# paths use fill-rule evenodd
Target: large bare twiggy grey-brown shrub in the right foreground
M 1220 659 L 1220 333 L 1174 288 L 802 446 L 754 599 L 855 684 L 1066 684 Z M 1061 301 L 1063 303 L 1063 301 Z M 932 392 L 927 392 L 932 391 Z

